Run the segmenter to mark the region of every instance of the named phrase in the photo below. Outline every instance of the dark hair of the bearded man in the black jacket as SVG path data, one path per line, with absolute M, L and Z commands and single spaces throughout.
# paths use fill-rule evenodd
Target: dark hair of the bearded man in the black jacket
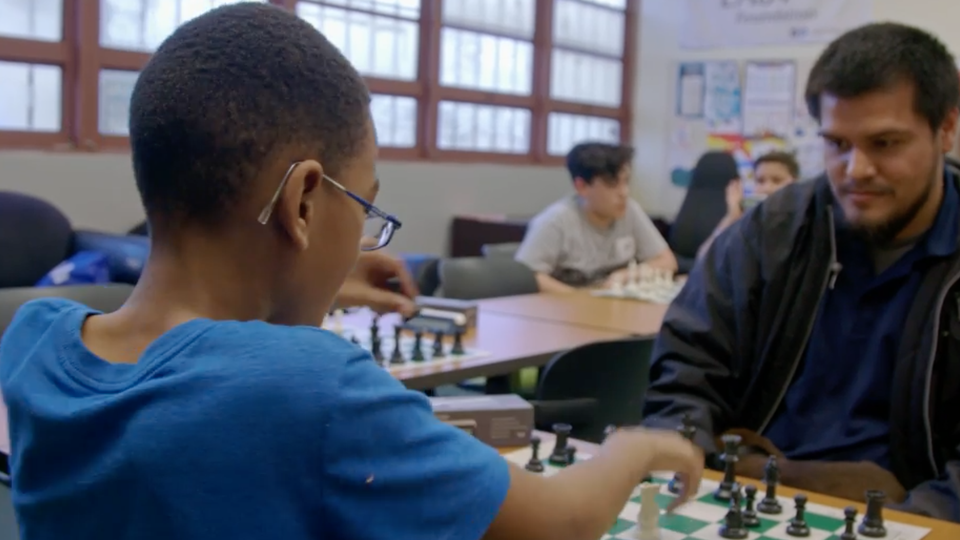
M 939 129 L 960 103 L 960 77 L 950 51 L 933 35 L 899 23 L 851 30 L 827 46 L 807 78 L 810 116 L 820 120 L 820 97 L 854 98 L 908 82 L 915 109 Z

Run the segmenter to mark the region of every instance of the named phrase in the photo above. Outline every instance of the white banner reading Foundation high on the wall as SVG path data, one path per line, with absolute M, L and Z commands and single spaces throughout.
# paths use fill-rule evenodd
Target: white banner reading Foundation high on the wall
M 671 1 L 683 2 L 685 49 L 826 43 L 873 20 L 873 0 Z

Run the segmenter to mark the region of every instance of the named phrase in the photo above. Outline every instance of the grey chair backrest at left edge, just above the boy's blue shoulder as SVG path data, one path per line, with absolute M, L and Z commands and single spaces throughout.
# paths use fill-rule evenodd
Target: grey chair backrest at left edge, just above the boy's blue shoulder
M 16 287 L 0 289 L 0 339 L 20 306 L 37 298 L 66 298 L 97 311 L 116 311 L 127 301 L 133 286 L 126 284 L 75 285 L 67 287 Z

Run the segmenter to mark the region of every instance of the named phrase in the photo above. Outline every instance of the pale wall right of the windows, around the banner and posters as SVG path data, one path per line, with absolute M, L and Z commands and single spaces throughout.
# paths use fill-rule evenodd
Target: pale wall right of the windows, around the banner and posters
M 704 2 L 716 0 L 702 0 Z M 677 64 L 689 60 L 796 60 L 798 90 L 822 45 L 688 51 L 678 46 L 682 6 L 675 0 L 645 0 L 640 18 L 639 81 L 636 86 L 634 141 L 637 145 L 636 194 L 653 215 L 672 218 L 684 191 L 670 183 L 668 144 L 677 80 Z M 874 0 L 874 18 L 930 31 L 960 54 L 960 3 L 943 0 Z

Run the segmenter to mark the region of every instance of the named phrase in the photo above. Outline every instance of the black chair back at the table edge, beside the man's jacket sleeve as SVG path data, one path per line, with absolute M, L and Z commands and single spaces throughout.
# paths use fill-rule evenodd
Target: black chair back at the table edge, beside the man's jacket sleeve
M 554 356 L 537 385 L 534 423 L 573 427 L 577 439 L 600 443 L 604 428 L 643 418 L 653 340 L 629 338 L 583 345 Z

